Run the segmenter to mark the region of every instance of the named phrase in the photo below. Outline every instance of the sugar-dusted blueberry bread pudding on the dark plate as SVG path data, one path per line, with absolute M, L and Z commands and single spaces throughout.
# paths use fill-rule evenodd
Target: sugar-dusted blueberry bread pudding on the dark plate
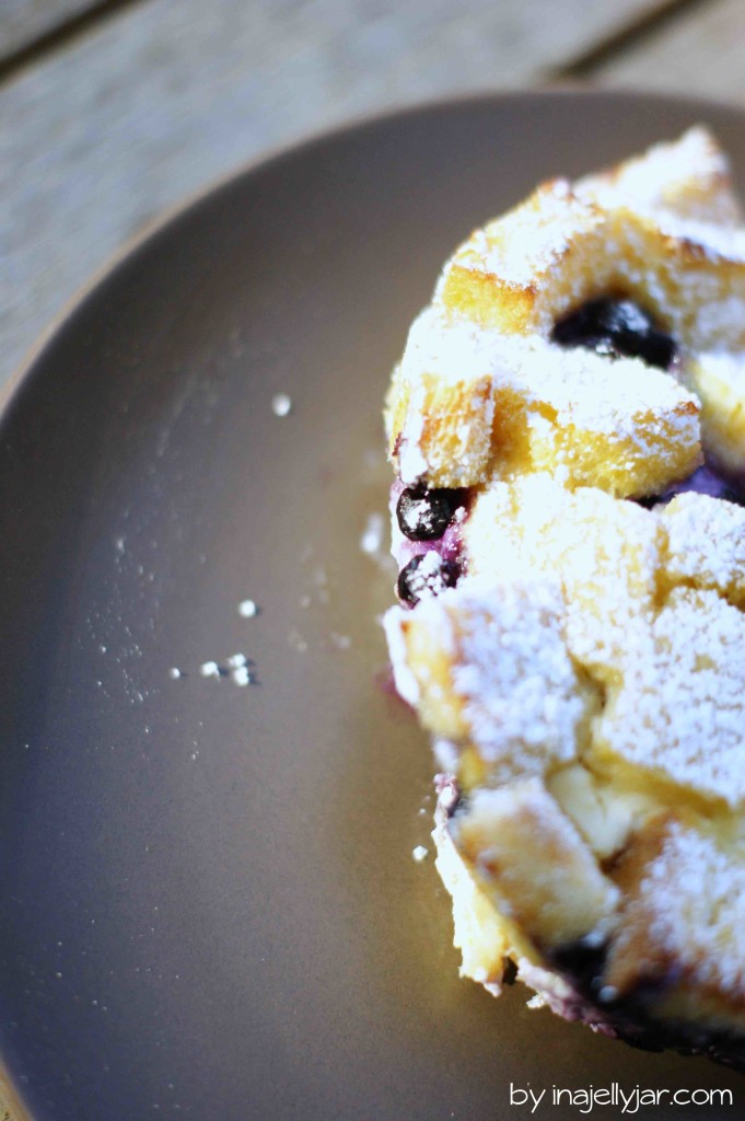
M 387 400 L 464 975 L 745 1058 L 745 228 L 702 127 L 445 265 Z

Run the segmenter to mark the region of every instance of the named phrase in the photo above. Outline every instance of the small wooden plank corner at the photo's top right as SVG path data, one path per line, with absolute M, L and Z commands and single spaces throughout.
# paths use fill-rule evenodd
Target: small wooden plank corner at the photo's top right
M 745 105 L 744 45 L 743 0 L 714 0 L 592 73 L 603 84 Z

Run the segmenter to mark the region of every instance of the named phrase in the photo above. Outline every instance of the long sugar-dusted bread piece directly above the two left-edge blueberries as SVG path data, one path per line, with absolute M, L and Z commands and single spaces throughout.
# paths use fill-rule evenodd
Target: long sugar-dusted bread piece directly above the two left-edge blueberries
M 430 308 L 411 330 L 387 420 L 404 482 L 471 487 L 550 470 L 625 498 L 698 466 L 698 413 L 688 390 L 637 359 L 505 340 Z

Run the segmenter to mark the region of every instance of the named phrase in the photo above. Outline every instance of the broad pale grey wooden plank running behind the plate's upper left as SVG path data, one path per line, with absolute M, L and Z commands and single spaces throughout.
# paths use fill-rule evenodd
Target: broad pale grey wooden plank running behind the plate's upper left
M 258 152 L 536 82 L 658 3 L 150 0 L 108 19 L 0 87 L 0 380 L 125 239 Z

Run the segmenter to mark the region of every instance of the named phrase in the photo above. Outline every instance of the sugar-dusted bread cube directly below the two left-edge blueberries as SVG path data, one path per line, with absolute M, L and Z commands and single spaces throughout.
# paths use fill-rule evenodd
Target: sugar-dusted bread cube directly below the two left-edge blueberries
M 465 585 L 385 619 L 436 735 L 473 744 L 494 782 L 575 758 L 596 711 L 564 637 L 556 581 Z

